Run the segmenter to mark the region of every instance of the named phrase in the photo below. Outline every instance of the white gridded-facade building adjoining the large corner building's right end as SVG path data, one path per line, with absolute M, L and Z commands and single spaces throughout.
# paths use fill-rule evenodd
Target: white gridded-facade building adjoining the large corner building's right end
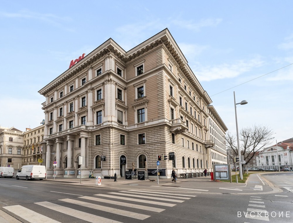
M 217 113 L 214 106 L 208 106 L 209 110 L 209 139 L 214 146 L 211 147 L 210 160 L 211 164 L 227 164 L 227 152 L 225 144 L 225 135 L 228 128 Z

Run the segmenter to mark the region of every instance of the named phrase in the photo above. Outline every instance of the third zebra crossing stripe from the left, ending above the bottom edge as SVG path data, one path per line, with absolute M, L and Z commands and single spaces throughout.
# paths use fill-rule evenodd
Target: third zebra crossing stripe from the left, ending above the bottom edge
M 150 215 L 144 215 L 144 214 L 139 214 L 139 213 L 135 213 L 135 212 L 131 212 L 131 211 L 125 211 L 125 210 L 120 210 L 117 208 L 110 208 L 110 207 L 106 207 L 106 206 L 102 206 L 102 205 L 97 205 L 97 204 L 92 204 L 92 203 L 88 203 L 88 202 L 84 202 L 84 201 L 80 201 L 80 200 L 74 200 L 74 199 L 60 199 L 61 201 L 65 201 L 71 204 L 76 204 L 76 205 L 81 205 L 83 207 L 87 207 L 87 208 L 93 208 L 96 210 L 101 210 L 101 211 L 105 211 L 105 212 L 110 212 L 116 215 L 122 215 L 122 216 L 127 216 L 127 217 L 132 217 L 132 218 L 136 218 L 139 220 L 144 220 L 148 217 L 151 217 Z

